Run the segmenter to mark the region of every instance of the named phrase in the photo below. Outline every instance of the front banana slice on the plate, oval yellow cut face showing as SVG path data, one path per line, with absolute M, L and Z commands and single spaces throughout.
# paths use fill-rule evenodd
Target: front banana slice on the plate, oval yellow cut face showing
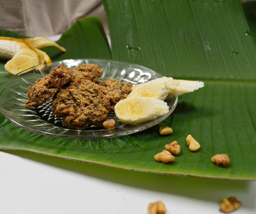
M 127 124 L 137 124 L 155 119 L 169 112 L 163 100 L 150 97 L 131 97 L 115 105 L 117 118 Z

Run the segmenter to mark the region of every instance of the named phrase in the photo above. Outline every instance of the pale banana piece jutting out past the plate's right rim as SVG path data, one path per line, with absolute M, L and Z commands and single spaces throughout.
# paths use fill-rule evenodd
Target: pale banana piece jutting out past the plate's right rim
M 173 80 L 174 83 L 178 84 L 166 97 L 178 96 L 184 93 L 193 92 L 204 87 L 203 82 L 199 81 L 191 81 L 191 80 Z

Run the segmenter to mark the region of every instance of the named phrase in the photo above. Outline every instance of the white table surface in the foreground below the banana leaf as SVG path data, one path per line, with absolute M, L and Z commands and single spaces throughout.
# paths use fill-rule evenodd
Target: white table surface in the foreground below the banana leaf
M 215 214 L 230 196 L 243 203 L 234 213 L 256 213 L 256 181 L 135 172 L 24 151 L 0 152 L 0 173 L 1 214 L 146 214 L 157 200 L 166 214 Z

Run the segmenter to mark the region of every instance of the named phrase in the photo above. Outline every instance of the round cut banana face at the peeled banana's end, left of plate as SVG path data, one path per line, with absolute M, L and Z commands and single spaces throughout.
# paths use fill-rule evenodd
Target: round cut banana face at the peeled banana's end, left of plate
M 38 65 L 38 57 L 16 55 L 5 64 L 4 68 L 9 74 L 15 75 L 35 65 Z

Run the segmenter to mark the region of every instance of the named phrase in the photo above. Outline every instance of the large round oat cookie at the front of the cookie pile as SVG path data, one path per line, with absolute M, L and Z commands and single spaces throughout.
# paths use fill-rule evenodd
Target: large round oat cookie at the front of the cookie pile
M 96 83 L 76 79 L 66 84 L 56 93 L 52 111 L 63 117 L 62 124 L 68 128 L 81 130 L 88 125 L 102 126 L 108 117 L 109 96 Z

